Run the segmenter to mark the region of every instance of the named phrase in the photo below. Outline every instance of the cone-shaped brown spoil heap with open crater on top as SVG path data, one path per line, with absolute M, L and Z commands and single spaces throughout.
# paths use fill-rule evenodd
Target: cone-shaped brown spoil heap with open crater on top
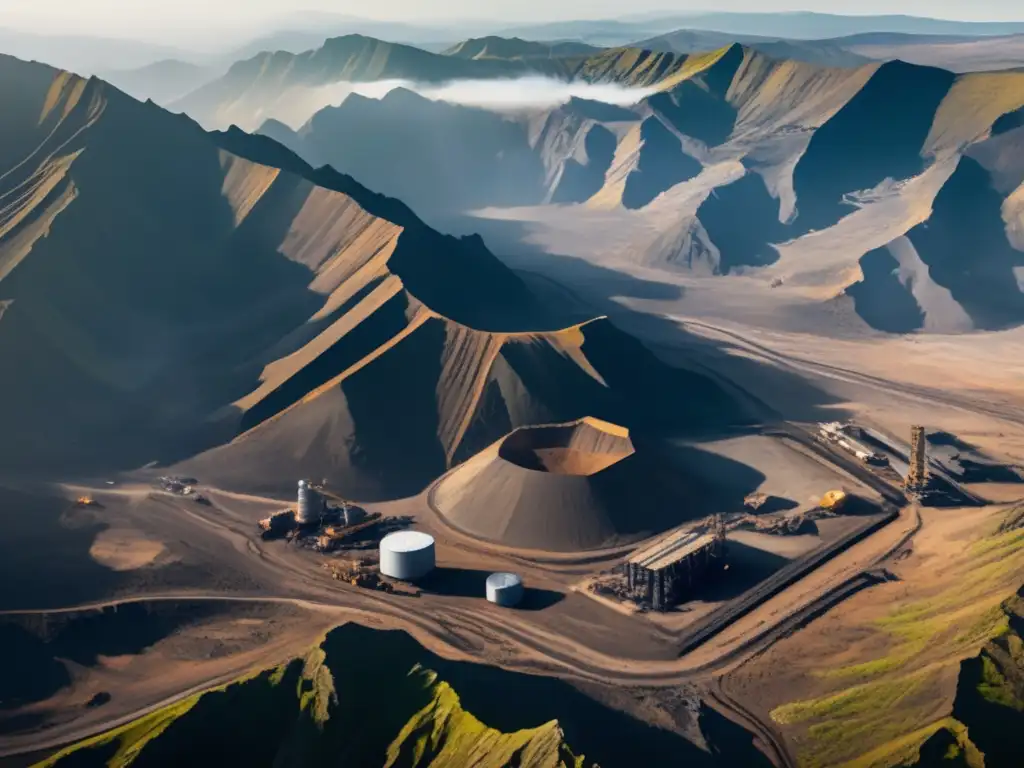
M 643 441 L 642 441 L 643 442 Z M 585 418 L 520 427 L 431 488 L 449 523 L 509 547 L 584 552 L 646 539 L 696 514 L 689 478 L 625 427 Z

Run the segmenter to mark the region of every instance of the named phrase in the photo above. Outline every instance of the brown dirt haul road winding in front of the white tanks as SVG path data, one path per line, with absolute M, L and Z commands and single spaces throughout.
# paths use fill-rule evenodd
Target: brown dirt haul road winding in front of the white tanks
M 108 489 L 95 488 L 96 493 L 109 493 Z M 132 493 L 122 490 L 121 493 Z M 178 506 L 178 505 L 176 505 Z M 511 653 L 501 660 L 501 666 L 512 671 L 529 674 L 549 674 L 561 678 L 577 679 L 604 685 L 624 686 L 651 686 L 668 687 L 682 683 L 693 683 L 703 681 L 703 685 L 710 691 L 709 698 L 713 700 L 724 714 L 730 716 L 740 724 L 751 728 L 762 742 L 764 749 L 771 759 L 780 766 L 795 766 L 792 755 L 788 754 L 781 737 L 774 731 L 770 723 L 759 721 L 749 711 L 741 708 L 738 702 L 731 699 L 728 694 L 721 689 L 718 677 L 727 669 L 742 663 L 751 654 L 771 644 L 778 637 L 779 632 L 785 631 L 785 622 L 791 615 L 804 614 L 813 609 L 818 601 L 829 602 L 829 596 L 835 600 L 834 593 L 838 588 L 842 588 L 851 580 L 857 579 L 865 568 L 874 564 L 874 558 L 879 555 L 879 548 L 869 547 L 862 552 L 855 552 L 858 547 L 865 544 L 881 544 L 876 537 L 861 542 L 850 551 L 845 552 L 841 557 L 821 566 L 816 575 L 825 577 L 825 571 L 830 566 L 836 565 L 836 572 L 830 579 L 822 579 L 820 588 L 811 590 L 800 595 L 796 602 L 788 606 L 780 606 L 780 601 L 785 601 L 785 594 L 780 593 L 768 600 L 764 607 L 769 610 L 764 616 L 759 616 L 760 609 L 753 608 L 753 612 L 748 614 L 745 621 L 752 626 L 756 626 L 760 631 L 751 632 L 745 637 L 739 635 L 739 642 L 736 637 L 725 638 L 722 643 L 716 644 L 713 638 L 705 643 L 700 648 L 700 653 L 686 654 L 679 658 L 660 662 L 636 662 L 628 658 L 613 657 L 590 649 L 571 638 L 555 634 L 542 627 L 531 625 L 528 622 L 518 621 L 514 615 L 492 610 L 473 609 L 472 607 L 453 607 L 451 603 L 438 603 L 438 601 L 426 598 L 412 598 L 389 596 L 382 593 L 368 592 L 354 587 L 335 585 L 333 582 L 323 586 L 308 582 L 310 571 L 306 568 L 296 567 L 295 562 L 286 562 L 276 557 L 271 549 L 262 549 L 251 540 L 250 546 L 240 546 L 237 541 L 239 532 L 218 522 L 215 519 L 203 515 L 197 515 L 191 510 L 182 508 L 182 512 L 187 513 L 187 517 L 194 524 L 200 524 L 194 518 L 202 518 L 202 525 L 207 532 L 214 530 L 221 538 L 231 542 L 233 547 L 240 552 L 246 553 L 261 567 L 271 568 L 280 575 L 288 579 L 289 583 L 297 583 L 295 577 L 302 577 L 301 582 L 305 582 L 307 589 L 309 586 L 317 587 L 308 589 L 311 593 L 308 596 L 294 595 L 224 595 L 203 592 L 173 592 L 166 594 L 152 594 L 127 597 L 123 599 L 104 600 L 98 602 L 85 603 L 80 605 L 62 606 L 57 608 L 43 608 L 36 610 L 16 610 L 0 612 L 0 617 L 14 615 L 39 615 L 39 614 L 68 614 L 75 612 L 90 612 L 117 608 L 119 605 L 131 603 L 147 602 L 243 602 L 243 603 L 279 603 L 296 606 L 311 611 L 327 612 L 335 614 L 339 624 L 346 621 L 354 621 L 370 626 L 389 626 L 404 629 L 413 635 L 421 644 L 439 655 L 457 660 L 479 660 L 480 648 L 488 643 L 494 643 L 499 638 L 501 644 L 508 647 Z M 901 515 L 902 517 L 902 515 Z M 900 526 L 892 526 L 894 528 Z M 901 535 L 902 537 L 902 535 Z M 885 549 L 887 554 L 890 546 Z M 787 590 L 786 590 L 787 591 Z M 762 598 L 763 599 L 763 598 Z M 791 601 L 792 602 L 792 601 Z M 773 617 L 777 615 L 777 620 Z M 732 622 L 735 617 L 729 617 Z M 767 625 L 765 621 L 767 621 Z M 767 627 L 767 628 L 766 628 Z M 735 633 L 733 633 L 735 634 Z M 267 659 L 267 666 L 272 666 L 284 658 Z M 67 729 L 55 728 L 47 734 L 46 742 L 34 742 L 31 751 L 56 749 L 62 744 L 74 742 L 82 738 L 87 738 L 96 733 L 102 732 L 113 727 L 117 727 L 125 722 L 143 716 L 161 707 L 180 700 L 194 693 L 217 687 L 237 677 L 236 674 L 226 675 L 222 678 L 208 681 L 201 686 L 183 690 L 161 701 L 155 702 L 144 710 L 123 715 L 115 720 L 93 725 L 88 728 Z M 7 752 L 0 751 L 0 758 L 30 751 L 28 748 L 14 748 Z

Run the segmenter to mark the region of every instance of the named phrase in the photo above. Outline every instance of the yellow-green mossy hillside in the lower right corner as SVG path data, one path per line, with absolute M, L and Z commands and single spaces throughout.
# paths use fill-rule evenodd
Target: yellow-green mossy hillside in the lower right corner
M 1010 517 L 1014 514 L 1011 510 Z M 1008 667 L 1024 672 L 1024 644 L 1013 630 L 1021 598 L 1006 600 L 1007 591 L 1019 586 L 1024 567 L 1024 530 L 996 526 L 968 548 L 967 557 L 964 575 L 954 585 L 897 605 L 874 622 L 873 630 L 885 641 L 884 654 L 816 673 L 822 681 L 846 687 L 771 712 L 780 725 L 804 727 L 797 736 L 804 764 L 919 765 L 919 751 L 942 731 L 947 736 L 937 738 L 952 739 L 942 750 L 955 745 L 957 751 L 953 764 L 984 765 L 983 750 L 968 736 L 970 718 L 967 723 L 956 717 L 929 722 L 929 716 L 940 676 L 972 657 L 982 665 L 977 693 L 1024 711 L 1019 689 L 1009 679 L 1014 676 L 1006 673 Z

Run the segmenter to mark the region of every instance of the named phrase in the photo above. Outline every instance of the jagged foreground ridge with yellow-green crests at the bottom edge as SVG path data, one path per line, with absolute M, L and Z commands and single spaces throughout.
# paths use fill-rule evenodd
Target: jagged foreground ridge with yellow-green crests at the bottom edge
M 411 642 L 381 637 L 404 658 L 355 651 L 354 627 L 334 631 L 303 659 L 221 689 L 193 695 L 97 738 L 74 744 L 40 768 L 214 764 L 593 765 L 577 757 L 557 721 L 503 733 L 463 709 L 459 694 L 415 662 Z M 394 634 L 394 633 L 388 633 Z M 346 647 L 347 646 L 347 647 Z M 420 652 L 421 656 L 428 656 Z M 401 665 L 401 660 L 406 664 Z M 372 703 L 371 703 L 372 702 Z M 371 714 L 372 713 L 372 714 Z M 202 746 L 200 746 L 202 744 Z

